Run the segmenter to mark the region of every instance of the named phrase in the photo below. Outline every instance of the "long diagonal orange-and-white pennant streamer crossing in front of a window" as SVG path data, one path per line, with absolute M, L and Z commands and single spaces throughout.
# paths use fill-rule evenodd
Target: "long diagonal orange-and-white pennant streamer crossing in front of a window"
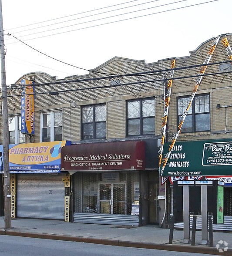
M 209 49 L 209 51 L 208 51 L 208 53 L 207 53 L 207 56 L 206 56 L 206 58 L 205 58 L 205 61 L 203 62 L 204 65 L 205 65 L 205 64 L 208 64 L 209 61 L 211 60 L 211 57 L 212 57 L 212 55 L 213 55 L 213 53 L 214 53 L 214 51 L 215 51 L 215 48 L 216 48 L 216 46 L 217 46 L 217 44 L 218 44 L 220 38 L 221 38 L 221 35 L 219 35 L 219 36 L 214 40 L 214 43 L 213 43 L 212 47 Z M 184 123 L 184 121 L 185 121 L 185 118 L 186 118 L 186 116 L 187 116 L 187 114 L 188 114 L 188 110 L 189 110 L 189 108 L 190 108 L 191 105 L 192 105 L 192 101 L 193 101 L 193 99 L 194 99 L 194 97 L 195 97 L 195 94 L 196 94 L 196 92 L 197 92 L 197 89 L 198 89 L 198 87 L 199 87 L 199 85 L 200 85 L 200 83 L 201 83 L 201 81 L 202 81 L 203 74 L 205 74 L 206 68 L 207 68 L 207 65 L 203 66 L 203 67 L 201 68 L 200 72 L 199 72 L 199 74 L 202 74 L 202 75 L 197 79 L 197 82 L 196 82 L 196 84 L 195 84 L 195 86 L 194 86 L 194 88 L 193 88 L 193 91 L 192 91 L 192 94 L 191 94 L 191 97 L 190 97 L 190 102 L 189 102 L 188 107 L 186 108 L 184 114 L 183 114 L 182 117 L 181 117 L 182 119 L 181 119 L 181 121 L 180 121 L 180 123 L 179 123 L 179 125 L 178 125 L 178 131 L 177 131 L 177 133 L 176 133 L 176 134 L 173 136 L 173 138 L 171 139 L 171 144 L 169 145 L 168 153 L 165 155 L 165 158 L 162 159 L 162 160 L 163 160 L 163 161 L 162 161 L 162 164 L 163 164 L 163 165 L 162 165 L 162 168 L 160 168 L 160 169 L 161 169 L 161 170 L 160 170 L 160 175 L 161 175 L 161 176 L 163 175 L 165 166 L 166 166 L 166 164 L 167 164 L 167 162 L 168 162 L 168 159 L 169 159 L 169 157 L 170 157 L 170 155 L 171 155 L 171 151 L 172 151 L 173 148 L 174 148 L 174 145 L 175 145 L 175 142 L 176 142 L 176 140 L 177 140 L 177 138 L 178 138 L 178 135 L 181 133 L 182 125 L 183 125 L 183 123 Z

